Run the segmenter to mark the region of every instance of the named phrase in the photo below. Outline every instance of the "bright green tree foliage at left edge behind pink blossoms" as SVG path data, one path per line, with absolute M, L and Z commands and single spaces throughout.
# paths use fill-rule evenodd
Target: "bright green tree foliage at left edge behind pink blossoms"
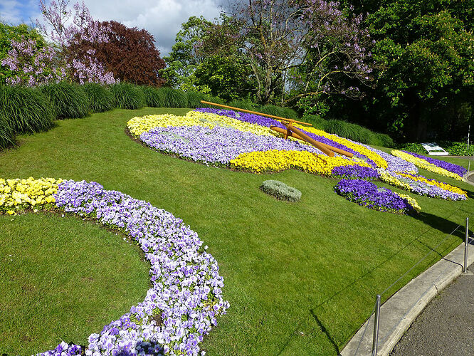
M 6 78 L 11 78 L 21 73 L 12 71 L 7 66 L 2 66 L 1 61 L 6 58 L 8 52 L 11 50 L 11 40 L 21 42 L 21 40 L 36 41 L 36 48 L 40 49 L 46 46 L 46 41 L 34 28 L 21 23 L 18 26 L 11 26 L 0 22 L 0 85 L 6 84 Z

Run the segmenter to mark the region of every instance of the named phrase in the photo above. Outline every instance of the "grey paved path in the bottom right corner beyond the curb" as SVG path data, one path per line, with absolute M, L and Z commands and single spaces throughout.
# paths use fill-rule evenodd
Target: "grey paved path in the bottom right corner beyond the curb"
M 390 355 L 474 355 L 474 275 L 462 273 L 431 300 Z

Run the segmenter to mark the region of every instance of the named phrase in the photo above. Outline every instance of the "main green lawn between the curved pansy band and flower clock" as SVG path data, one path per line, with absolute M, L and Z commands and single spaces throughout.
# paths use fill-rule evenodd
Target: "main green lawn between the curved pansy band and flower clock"
M 337 196 L 333 179 L 295 170 L 250 174 L 206 167 L 159 154 L 125 135 L 131 117 L 186 111 L 113 110 L 58 121 L 53 130 L 23 136 L 20 147 L 0 153 L 0 177 L 96 181 L 189 224 L 216 257 L 224 298 L 231 303 L 205 338 L 207 355 L 337 355 L 372 312 L 376 293 L 466 216 L 472 219 L 473 187 L 429 172 L 421 174 L 467 189 L 470 199 L 411 194 L 423 211 L 416 218 L 381 213 Z M 465 160 L 456 162 L 467 167 Z M 260 192 L 265 179 L 299 189 L 301 201 L 278 201 Z M 68 229 L 79 234 L 83 228 L 71 222 Z M 384 299 L 462 239 L 458 229 Z M 110 314 L 110 320 L 115 317 Z

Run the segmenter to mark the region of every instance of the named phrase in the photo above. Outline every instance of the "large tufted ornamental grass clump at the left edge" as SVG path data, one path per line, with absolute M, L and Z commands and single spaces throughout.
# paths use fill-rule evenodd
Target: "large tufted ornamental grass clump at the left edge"
M 11 137 L 10 131 L 13 134 L 47 131 L 54 125 L 53 106 L 37 88 L 0 86 L 0 113 L 6 122 L 0 124 L 4 126 L 2 137 Z

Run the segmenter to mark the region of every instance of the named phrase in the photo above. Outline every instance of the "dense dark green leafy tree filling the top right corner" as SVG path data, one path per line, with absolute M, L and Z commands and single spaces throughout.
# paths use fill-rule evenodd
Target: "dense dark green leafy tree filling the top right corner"
M 398 140 L 463 137 L 473 116 L 474 1 L 385 0 L 367 9 L 376 87 L 352 113 Z

